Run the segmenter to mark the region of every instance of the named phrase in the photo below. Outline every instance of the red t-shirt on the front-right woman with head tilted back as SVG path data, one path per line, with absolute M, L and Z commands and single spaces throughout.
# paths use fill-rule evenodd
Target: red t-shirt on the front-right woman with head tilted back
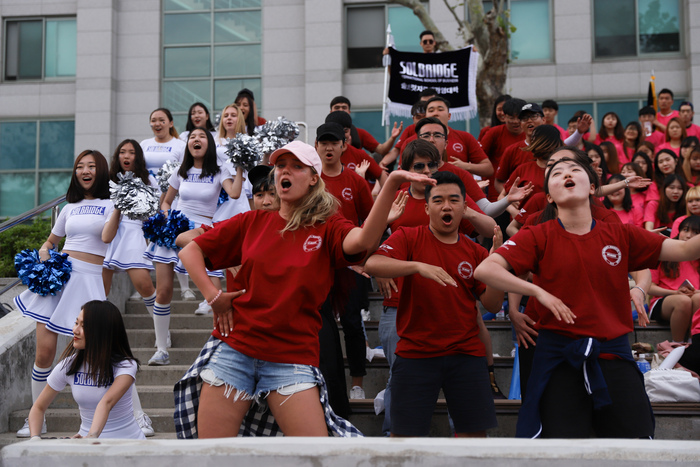
M 607 341 L 634 329 L 630 313 L 630 271 L 655 268 L 664 237 L 625 224 L 596 222 L 585 235 L 564 230 L 557 219 L 521 229 L 496 253 L 515 274 L 561 299 L 577 316 L 558 321 L 535 303 L 539 326 L 572 338 Z

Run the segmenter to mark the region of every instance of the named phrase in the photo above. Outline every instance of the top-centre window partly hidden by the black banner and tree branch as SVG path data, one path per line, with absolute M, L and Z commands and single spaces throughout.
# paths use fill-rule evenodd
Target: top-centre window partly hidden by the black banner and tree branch
M 425 4 L 427 8 L 427 4 Z M 420 52 L 418 36 L 425 29 L 413 11 L 400 5 L 348 6 L 346 12 L 347 67 L 379 68 L 386 46 L 386 27 L 397 50 Z

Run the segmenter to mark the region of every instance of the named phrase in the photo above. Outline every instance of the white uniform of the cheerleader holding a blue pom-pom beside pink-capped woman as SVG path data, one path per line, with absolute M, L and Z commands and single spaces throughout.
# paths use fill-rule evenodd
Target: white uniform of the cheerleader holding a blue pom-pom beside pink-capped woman
M 168 180 L 170 186 L 178 190 L 180 195 L 177 209 L 194 223 L 194 228 L 202 224 L 212 224 L 221 184 L 224 180 L 231 179 L 231 174 L 225 167 L 221 167 L 215 175 L 200 177 L 201 174 L 202 169 L 192 167 L 187 171 L 186 179 L 183 180 L 176 172 Z M 152 243 L 144 257 L 157 263 L 175 263 L 175 272 L 187 274 L 187 270 L 177 256 L 177 251 L 173 249 Z M 210 271 L 209 275 L 223 277 L 220 271 Z

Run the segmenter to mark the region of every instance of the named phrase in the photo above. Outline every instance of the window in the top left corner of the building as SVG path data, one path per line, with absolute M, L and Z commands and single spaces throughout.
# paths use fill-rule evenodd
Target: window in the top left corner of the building
M 75 76 L 75 18 L 5 21 L 5 81 Z

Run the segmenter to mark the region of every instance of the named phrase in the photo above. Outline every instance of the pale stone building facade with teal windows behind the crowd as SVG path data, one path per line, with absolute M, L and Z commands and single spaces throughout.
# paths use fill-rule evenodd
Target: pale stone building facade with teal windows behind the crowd
M 459 45 L 444 2 L 425 5 Z M 700 0 L 509 6 L 514 96 L 554 99 L 567 119 L 613 109 L 623 123 L 652 70 L 676 102 L 700 96 Z M 192 103 L 216 115 L 244 87 L 261 115 L 306 122 L 308 135 L 345 95 L 356 124 L 382 140 L 386 27 L 402 50 L 418 50 L 423 29 L 404 7 L 364 0 L 0 0 L 0 18 L 1 217 L 65 193 L 81 150 L 109 157 L 125 138 L 150 137 L 155 108 L 170 108 L 184 130 Z

